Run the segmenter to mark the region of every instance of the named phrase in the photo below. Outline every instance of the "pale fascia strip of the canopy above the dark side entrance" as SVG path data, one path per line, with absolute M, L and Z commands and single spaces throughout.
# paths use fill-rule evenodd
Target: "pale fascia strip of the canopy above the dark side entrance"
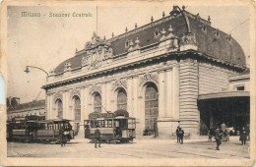
M 225 91 L 198 95 L 198 100 L 228 97 L 249 97 L 250 91 Z

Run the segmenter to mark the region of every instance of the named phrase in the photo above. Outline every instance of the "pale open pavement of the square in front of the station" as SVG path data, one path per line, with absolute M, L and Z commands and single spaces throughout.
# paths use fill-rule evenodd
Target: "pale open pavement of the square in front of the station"
M 101 143 L 95 148 L 89 139 L 72 139 L 66 146 L 49 143 L 8 142 L 8 157 L 54 158 L 249 158 L 249 144 L 241 145 L 238 137 L 223 141 L 216 150 L 215 140 L 187 139 L 183 144 L 170 139 L 134 139 L 126 143 Z

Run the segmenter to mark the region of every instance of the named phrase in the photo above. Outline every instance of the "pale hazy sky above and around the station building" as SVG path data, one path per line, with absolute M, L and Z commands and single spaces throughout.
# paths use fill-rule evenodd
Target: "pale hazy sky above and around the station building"
M 103 38 L 110 38 L 112 32 L 118 35 L 125 28 L 133 29 L 144 26 L 161 18 L 172 10 L 172 5 L 159 6 L 36 6 L 8 7 L 8 79 L 7 96 L 21 98 L 21 103 L 45 98 L 44 89 L 46 75 L 36 69 L 31 73 L 24 71 L 27 65 L 36 66 L 49 72 L 64 60 L 75 56 L 76 48 L 82 50 L 96 31 Z M 243 6 L 186 6 L 192 14 L 199 13 L 201 18 L 211 16 L 212 27 L 230 33 L 242 46 L 244 53 L 249 53 L 249 9 Z M 40 13 L 38 18 L 22 17 L 22 12 Z M 49 17 L 49 13 L 91 13 L 91 18 L 59 18 Z M 45 16 L 44 16 L 45 15 Z M 242 25 L 240 25 L 243 23 Z M 233 29 L 235 28 L 235 29 Z M 233 29 L 232 31 L 230 31 Z M 39 94 L 39 95 L 38 95 Z

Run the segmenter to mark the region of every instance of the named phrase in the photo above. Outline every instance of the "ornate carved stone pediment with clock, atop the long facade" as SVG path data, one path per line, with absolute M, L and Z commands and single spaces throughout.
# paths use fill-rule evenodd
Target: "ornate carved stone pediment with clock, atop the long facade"
M 101 39 L 96 33 L 93 34 L 92 41 L 86 43 L 85 50 L 82 66 L 87 66 L 88 70 L 99 68 L 102 61 L 111 59 L 113 56 L 113 49 L 110 47 L 110 43 Z

